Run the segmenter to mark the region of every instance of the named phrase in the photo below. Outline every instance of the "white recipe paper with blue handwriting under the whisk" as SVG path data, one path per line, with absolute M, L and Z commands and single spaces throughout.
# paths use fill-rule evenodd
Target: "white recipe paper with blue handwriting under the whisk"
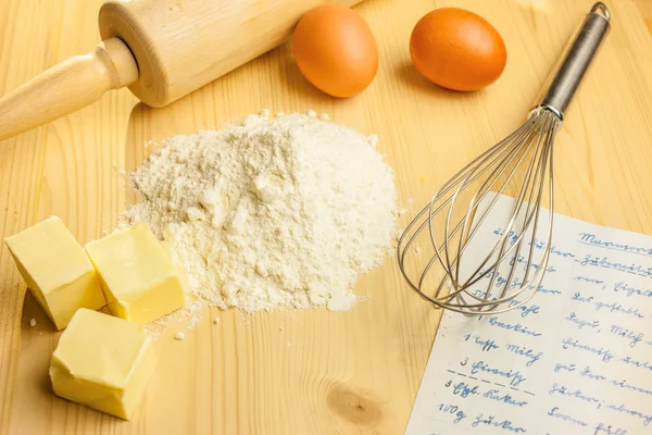
M 443 313 L 406 435 L 652 434 L 652 237 L 555 214 L 552 245 L 525 306 Z

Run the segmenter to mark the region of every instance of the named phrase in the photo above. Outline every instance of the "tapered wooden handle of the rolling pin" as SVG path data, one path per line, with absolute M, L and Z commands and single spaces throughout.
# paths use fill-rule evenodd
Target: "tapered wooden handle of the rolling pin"
M 106 39 L 0 98 L 0 140 L 65 116 L 137 79 L 129 48 L 118 38 Z

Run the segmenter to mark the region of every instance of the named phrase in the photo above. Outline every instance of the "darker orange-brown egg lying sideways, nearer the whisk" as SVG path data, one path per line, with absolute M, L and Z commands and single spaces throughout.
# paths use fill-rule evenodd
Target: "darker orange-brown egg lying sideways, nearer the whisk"
M 481 16 L 459 8 L 437 9 L 414 27 L 414 65 L 430 82 L 454 90 L 477 90 L 500 77 L 507 62 L 505 44 Z

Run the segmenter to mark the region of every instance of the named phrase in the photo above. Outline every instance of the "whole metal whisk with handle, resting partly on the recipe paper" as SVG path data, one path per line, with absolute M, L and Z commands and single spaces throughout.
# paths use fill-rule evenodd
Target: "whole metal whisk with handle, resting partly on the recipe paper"
M 397 253 L 403 276 L 423 298 L 487 314 L 516 309 L 539 289 L 551 254 L 554 136 L 609 28 L 609 10 L 598 2 L 525 124 L 453 175 L 410 223 Z M 501 194 L 514 196 L 507 207 Z M 484 223 L 493 225 L 491 238 L 486 231 L 476 237 Z M 430 254 L 419 256 L 419 240 Z M 439 284 L 431 283 L 437 262 L 444 273 Z

